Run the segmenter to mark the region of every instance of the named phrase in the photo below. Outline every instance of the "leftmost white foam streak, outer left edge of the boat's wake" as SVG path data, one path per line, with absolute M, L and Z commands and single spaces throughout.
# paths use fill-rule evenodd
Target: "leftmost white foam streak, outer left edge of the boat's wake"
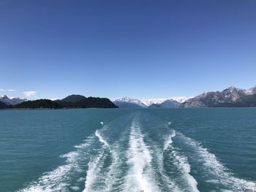
M 91 146 L 94 137 L 86 139 L 85 143 L 79 145 L 78 150 L 61 155 L 66 159 L 66 164 L 58 166 L 51 172 L 45 172 L 37 182 L 31 183 L 27 188 L 23 188 L 20 192 L 53 192 L 53 191 L 69 191 L 69 175 L 82 172 L 80 161 L 86 158 L 85 151 Z

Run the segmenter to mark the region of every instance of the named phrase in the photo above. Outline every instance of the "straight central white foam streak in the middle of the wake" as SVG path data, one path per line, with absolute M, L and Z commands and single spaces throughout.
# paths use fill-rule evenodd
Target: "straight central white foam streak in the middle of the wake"
M 135 120 L 132 122 L 131 133 L 129 135 L 127 158 L 130 168 L 126 177 L 126 183 L 124 184 L 124 191 L 159 191 L 151 170 L 151 152 L 143 141 L 140 126 Z

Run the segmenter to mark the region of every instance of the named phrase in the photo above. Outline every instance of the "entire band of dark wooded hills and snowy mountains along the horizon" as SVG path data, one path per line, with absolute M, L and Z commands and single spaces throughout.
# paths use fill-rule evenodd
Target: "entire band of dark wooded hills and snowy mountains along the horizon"
M 64 99 L 26 99 L 0 96 L 0 109 L 66 109 L 66 108 L 203 108 L 203 107 L 256 107 L 256 86 L 248 90 L 230 87 L 223 91 L 210 91 L 187 100 L 155 99 L 140 101 L 124 97 L 110 101 L 107 98 L 67 96 Z

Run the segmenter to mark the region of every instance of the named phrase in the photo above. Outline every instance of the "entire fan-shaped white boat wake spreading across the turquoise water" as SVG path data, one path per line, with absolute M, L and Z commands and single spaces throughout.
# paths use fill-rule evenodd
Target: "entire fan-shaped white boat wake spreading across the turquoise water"
M 167 133 L 149 137 L 139 117 L 134 115 L 127 124 L 118 120 L 125 127 L 118 137 L 113 137 L 116 123 L 112 129 L 102 125 L 75 150 L 61 155 L 65 164 L 19 192 L 198 192 L 200 185 L 209 191 L 256 191 L 254 182 L 235 177 L 198 142 L 166 129 L 166 122 L 162 130 Z

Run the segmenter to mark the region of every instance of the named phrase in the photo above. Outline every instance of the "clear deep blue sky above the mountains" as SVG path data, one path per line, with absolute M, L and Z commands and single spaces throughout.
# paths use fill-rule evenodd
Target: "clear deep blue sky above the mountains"
M 1 0 L 0 94 L 146 99 L 250 88 L 255 10 L 254 0 Z

